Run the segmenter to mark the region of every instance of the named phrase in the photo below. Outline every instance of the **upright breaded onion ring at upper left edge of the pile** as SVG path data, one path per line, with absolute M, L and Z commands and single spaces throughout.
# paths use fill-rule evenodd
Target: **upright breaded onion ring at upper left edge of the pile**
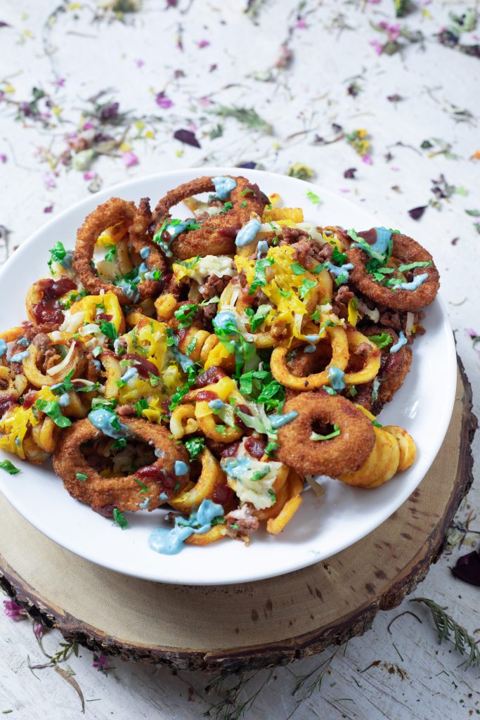
M 135 207 L 134 202 L 127 202 L 119 197 L 112 197 L 104 204 L 91 212 L 77 232 L 76 249 L 73 253 L 73 269 L 81 279 L 81 282 L 91 294 L 99 294 L 100 290 L 114 292 L 122 305 L 131 305 L 132 297 L 124 294 L 120 287 L 99 277 L 98 272 L 92 268 L 91 262 L 94 256 L 95 243 L 99 235 L 112 225 L 125 222 L 128 225 L 130 241 L 137 253 L 140 254 L 142 247 L 150 248 L 150 255 L 145 264 L 149 269 L 164 271 L 166 268 L 163 254 L 158 247 L 153 247 L 147 235 L 150 225 L 150 206 L 148 198 L 140 201 L 140 206 Z M 160 292 L 160 284 L 155 280 L 139 282 L 137 290 L 139 302 L 147 297 Z

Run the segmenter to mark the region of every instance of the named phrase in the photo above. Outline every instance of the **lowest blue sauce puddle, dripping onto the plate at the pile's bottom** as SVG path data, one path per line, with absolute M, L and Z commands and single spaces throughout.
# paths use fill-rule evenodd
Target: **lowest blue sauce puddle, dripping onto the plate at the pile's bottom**
M 175 526 L 157 528 L 150 534 L 148 545 L 155 552 L 176 555 L 184 546 L 184 541 L 193 534 L 204 534 L 212 528 L 212 520 L 224 514 L 222 505 L 212 500 L 202 500 L 198 510 L 193 510 L 189 518 L 176 517 Z

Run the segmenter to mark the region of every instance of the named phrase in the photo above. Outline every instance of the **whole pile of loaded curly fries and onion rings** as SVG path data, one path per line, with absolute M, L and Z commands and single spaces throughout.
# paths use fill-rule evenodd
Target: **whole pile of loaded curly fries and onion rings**
M 155 207 L 112 197 L 74 251 L 55 243 L 28 320 L 0 333 L 0 449 L 53 457 L 70 495 L 122 528 L 168 509 L 159 553 L 288 533 L 318 476 L 363 493 L 415 463 L 400 420 L 376 417 L 438 286 L 400 230 L 307 222 L 243 176 Z

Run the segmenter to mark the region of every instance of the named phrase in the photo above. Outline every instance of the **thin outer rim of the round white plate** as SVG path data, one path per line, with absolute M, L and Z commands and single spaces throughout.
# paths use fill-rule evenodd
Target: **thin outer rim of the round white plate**
M 9 271 L 9 268 L 11 264 L 17 263 L 18 258 L 21 258 L 24 253 L 27 253 L 28 248 L 31 248 L 33 243 L 35 243 L 35 240 L 38 235 L 44 234 L 49 228 L 55 227 L 58 223 L 60 223 L 65 217 L 68 217 L 68 215 L 71 215 L 72 213 L 81 210 L 82 207 L 90 207 L 91 205 L 94 205 L 94 207 L 98 206 L 99 204 L 106 202 L 106 199 L 109 199 L 109 197 L 114 197 L 114 195 L 119 192 L 124 192 L 125 189 L 128 189 L 128 192 L 132 192 L 132 190 L 135 190 L 135 187 L 137 185 L 142 185 L 145 182 L 148 181 L 155 181 L 155 179 L 168 179 L 168 177 L 178 177 L 178 176 L 184 176 L 184 179 L 181 179 L 180 182 L 188 181 L 189 175 L 190 176 L 199 176 L 202 175 L 215 175 L 215 174 L 242 174 L 243 171 L 246 171 L 246 174 L 248 174 L 249 179 L 253 181 L 258 181 L 261 183 L 262 177 L 268 177 L 270 179 L 278 178 L 281 179 L 281 181 L 290 182 L 292 184 L 299 184 L 300 186 L 303 186 L 307 189 L 315 189 L 319 191 L 320 197 L 326 197 L 329 196 L 332 199 L 341 199 L 343 204 L 350 204 L 353 208 L 356 210 L 362 210 L 363 212 L 366 212 L 367 215 L 371 215 L 372 217 L 375 215 L 379 215 L 378 211 L 368 210 L 366 208 L 361 207 L 361 205 L 353 202 L 350 198 L 345 198 L 341 194 L 332 192 L 330 189 L 327 189 L 326 187 L 322 187 L 320 184 L 317 183 L 311 183 L 307 182 L 298 178 L 292 178 L 290 176 L 282 175 L 279 173 L 274 173 L 271 171 L 263 171 L 258 170 L 255 168 L 235 168 L 235 167 L 229 167 L 229 166 L 201 166 L 199 168 L 178 168 L 176 170 L 171 171 L 165 171 L 165 172 L 157 172 L 157 173 L 151 173 L 145 176 L 139 176 L 134 177 L 132 179 L 119 182 L 117 184 L 114 184 L 112 186 L 108 186 L 105 189 L 102 189 L 101 191 L 91 195 L 84 197 L 78 202 L 69 205 L 65 208 L 65 210 L 62 210 L 58 213 L 58 215 L 55 215 L 54 217 L 50 218 L 45 222 L 43 225 L 40 226 L 40 228 L 37 228 L 34 233 L 29 235 L 28 238 L 26 238 L 22 244 L 17 248 L 14 253 L 6 260 L 4 265 L 0 268 L 0 284 L 1 279 L 3 278 L 4 274 L 6 274 L 7 271 Z M 178 182 L 178 181 L 177 181 Z M 121 197 L 121 194 L 120 196 Z M 96 202 L 96 205 L 95 205 Z M 91 212 L 91 210 L 89 211 Z M 76 233 L 76 230 L 73 233 Z M 15 258 L 15 259 L 14 259 Z M 435 433 L 436 442 L 433 443 L 434 451 L 432 452 L 430 462 L 428 463 L 428 466 L 425 469 L 425 474 L 430 470 L 430 467 L 432 466 L 435 457 L 438 455 L 438 451 L 440 450 L 440 446 L 443 444 L 443 441 L 445 439 L 445 435 L 448 431 L 448 426 L 450 423 L 451 415 L 453 412 L 453 405 L 455 402 L 456 397 L 456 346 L 455 346 L 455 339 L 453 336 L 453 330 L 450 325 L 450 321 L 448 318 L 448 312 L 445 305 L 445 302 L 443 301 L 443 298 L 441 297 L 441 294 L 438 293 L 437 297 L 435 298 L 432 305 L 437 305 L 438 309 L 440 310 L 441 320 L 442 320 L 442 329 L 445 331 L 445 337 L 447 339 L 447 344 L 444 348 L 445 351 L 445 364 L 447 364 L 449 367 L 451 366 L 452 369 L 455 369 L 455 380 L 450 385 L 450 393 L 448 397 L 445 398 L 444 402 L 444 408 L 446 410 L 446 413 L 444 414 L 444 422 L 443 422 L 443 428 L 441 428 L 440 433 Z M 26 462 L 26 461 L 19 461 L 19 462 Z M 42 529 L 37 526 L 37 524 L 30 519 L 30 513 L 27 513 L 27 516 L 22 512 L 22 510 L 19 509 L 17 505 L 21 505 L 21 503 L 15 503 L 14 499 L 10 497 L 10 493 L 4 492 L 4 490 L 0 490 L 6 500 L 12 505 L 14 510 L 16 510 L 22 518 L 24 518 L 25 521 L 30 523 L 32 526 L 37 529 L 40 533 L 45 535 L 47 538 L 55 542 L 56 544 L 63 547 L 65 550 L 68 550 L 68 552 L 72 552 L 77 557 L 82 557 L 83 559 L 86 559 L 89 562 L 92 562 L 96 565 L 99 565 L 100 567 L 104 567 L 107 570 L 111 570 L 113 572 L 118 572 L 121 575 L 126 575 L 127 577 L 137 577 L 140 580 L 145 580 L 147 582 L 165 582 L 167 584 L 173 584 L 173 585 L 205 585 L 205 586 L 212 586 L 212 585 L 235 585 L 240 584 L 243 585 L 248 582 L 258 582 L 261 580 L 267 580 L 268 578 L 273 577 L 279 577 L 280 575 L 286 575 L 289 572 L 296 572 L 296 570 L 302 570 L 304 567 L 309 567 L 309 565 L 315 564 L 317 562 L 325 561 L 325 559 L 329 557 L 333 557 L 334 555 L 338 554 L 339 552 L 343 552 L 346 548 L 348 548 L 350 545 L 355 544 L 356 542 L 363 539 L 366 535 L 373 532 L 376 528 L 381 526 L 382 523 L 384 523 L 389 516 L 391 516 L 392 512 L 395 512 L 398 510 L 398 508 L 403 505 L 403 503 L 407 500 L 409 495 L 412 494 L 412 492 L 415 492 L 415 489 L 419 487 L 420 483 L 422 482 L 423 478 L 425 477 L 425 474 L 420 477 L 420 479 L 417 482 L 417 485 L 412 490 L 409 490 L 407 493 L 405 492 L 399 492 L 399 497 L 402 498 L 398 501 L 397 507 L 391 511 L 388 510 L 386 513 L 380 513 L 381 520 L 380 521 L 373 521 L 373 526 L 368 526 L 368 528 L 365 531 L 362 531 L 361 534 L 356 538 L 355 541 L 346 540 L 344 543 L 339 543 L 338 546 L 335 549 L 335 552 L 327 552 L 325 556 L 322 555 L 322 557 L 317 557 L 315 555 L 312 555 L 312 557 L 308 557 L 309 554 L 305 553 L 304 557 L 302 558 L 301 555 L 296 555 L 294 553 L 287 554 L 290 555 L 292 559 L 298 558 L 296 562 L 289 562 L 286 563 L 288 567 L 284 567 L 281 571 L 274 570 L 273 572 L 268 572 L 268 569 L 265 567 L 263 570 L 258 570 L 258 566 L 255 566 L 255 563 L 249 564 L 250 567 L 255 567 L 256 572 L 253 577 L 247 577 L 245 573 L 245 577 L 240 577 L 234 580 L 231 579 L 211 579 L 211 580 L 204 580 L 202 579 L 199 581 L 196 577 L 192 580 L 191 575 L 189 577 L 184 576 L 177 576 L 177 577 L 152 577 L 146 576 L 145 572 L 132 572 L 132 570 L 124 570 L 121 567 L 121 564 L 116 562 L 117 558 L 109 558 L 109 562 L 99 559 L 98 557 L 92 557 L 92 554 L 90 552 L 80 552 L 78 548 L 73 548 L 70 544 L 68 544 L 68 541 L 65 541 L 64 539 L 57 538 L 55 536 L 54 531 L 47 531 L 47 528 Z M 13 493 L 14 495 L 14 493 Z M 302 559 L 301 559 L 302 558 Z M 158 567 L 157 570 L 162 570 L 162 567 Z M 158 573 L 157 573 L 158 574 Z

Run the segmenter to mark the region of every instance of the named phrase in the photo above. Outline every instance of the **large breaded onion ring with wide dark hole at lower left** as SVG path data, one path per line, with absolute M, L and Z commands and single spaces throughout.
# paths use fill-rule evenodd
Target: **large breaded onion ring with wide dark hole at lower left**
M 82 444 L 100 436 L 87 419 L 78 420 L 61 433 L 53 454 L 53 468 L 70 495 L 102 514 L 111 514 L 113 508 L 135 512 L 141 509 L 140 505 L 154 510 L 175 497 L 189 480 L 188 473 L 176 476 L 174 467 L 176 461 L 187 463 L 188 453 L 183 446 L 171 440 L 165 428 L 137 418 L 122 418 L 122 423 L 129 426 L 132 438 L 145 444 L 153 443 L 160 457 L 152 465 L 140 468 L 127 477 L 103 477 L 91 467 L 81 451 Z M 86 475 L 84 482 L 78 479 L 78 473 Z M 161 493 L 164 493 L 162 500 Z M 146 500 L 150 502 L 145 503 Z

